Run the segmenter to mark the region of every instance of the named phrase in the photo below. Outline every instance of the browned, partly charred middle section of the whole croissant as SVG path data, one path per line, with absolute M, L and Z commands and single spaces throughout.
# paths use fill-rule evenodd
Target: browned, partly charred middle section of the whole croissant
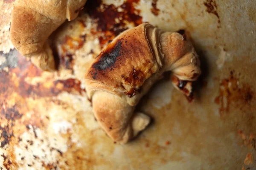
M 133 96 L 159 70 L 144 29 L 143 24 L 116 37 L 95 59 L 85 78 Z

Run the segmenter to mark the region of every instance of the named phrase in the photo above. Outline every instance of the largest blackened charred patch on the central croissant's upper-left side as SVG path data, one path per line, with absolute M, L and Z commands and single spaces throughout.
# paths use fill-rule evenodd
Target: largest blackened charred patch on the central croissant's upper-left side
M 111 69 L 115 65 L 117 58 L 121 55 L 121 45 L 122 40 L 118 40 L 113 47 L 108 48 L 99 55 L 99 61 L 92 65 L 92 68 L 95 69 L 91 72 L 93 79 L 96 79 L 97 71 Z

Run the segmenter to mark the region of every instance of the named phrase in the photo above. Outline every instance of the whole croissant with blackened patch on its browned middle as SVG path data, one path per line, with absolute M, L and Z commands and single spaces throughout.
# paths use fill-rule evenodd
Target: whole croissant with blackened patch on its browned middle
M 201 74 L 191 42 L 179 33 L 150 24 L 124 31 L 94 60 L 86 76 L 86 90 L 99 124 L 114 141 L 124 144 L 144 130 L 150 117 L 134 113 L 135 106 L 166 71 L 186 96 Z

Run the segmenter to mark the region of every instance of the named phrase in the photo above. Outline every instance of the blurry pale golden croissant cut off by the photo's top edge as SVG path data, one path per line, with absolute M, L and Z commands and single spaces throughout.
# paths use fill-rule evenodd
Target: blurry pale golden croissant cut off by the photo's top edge
M 73 20 L 86 0 L 16 0 L 10 37 L 14 47 L 46 71 L 55 70 L 47 38 L 65 20 Z

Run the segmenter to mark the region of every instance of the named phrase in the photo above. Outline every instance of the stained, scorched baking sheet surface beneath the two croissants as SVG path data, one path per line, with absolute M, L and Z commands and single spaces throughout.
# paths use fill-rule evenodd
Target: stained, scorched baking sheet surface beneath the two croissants
M 13 0 L 0 1 L 0 169 L 256 169 L 254 0 L 88 0 L 49 38 L 59 71 L 42 72 L 9 40 Z M 139 109 L 154 119 L 114 144 L 93 117 L 84 75 L 102 47 L 148 22 L 185 30 L 203 75 L 192 103 L 168 79 Z

